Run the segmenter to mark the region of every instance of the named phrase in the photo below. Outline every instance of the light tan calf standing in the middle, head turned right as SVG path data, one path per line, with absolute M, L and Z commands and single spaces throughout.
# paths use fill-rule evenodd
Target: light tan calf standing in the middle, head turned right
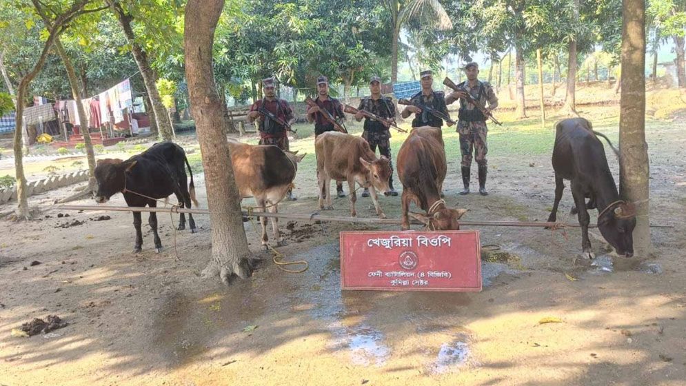
M 387 192 L 391 175 L 390 160 L 380 159 L 370 149 L 369 143 L 359 136 L 341 132 L 325 132 L 317 136 L 314 143 L 317 159 L 317 182 L 319 183 L 319 209 L 333 209 L 331 205 L 331 180 L 347 181 L 350 187 L 350 214 L 357 216 L 355 210 L 355 182 L 367 187 L 372 195 L 376 214 L 385 219 L 376 190 Z

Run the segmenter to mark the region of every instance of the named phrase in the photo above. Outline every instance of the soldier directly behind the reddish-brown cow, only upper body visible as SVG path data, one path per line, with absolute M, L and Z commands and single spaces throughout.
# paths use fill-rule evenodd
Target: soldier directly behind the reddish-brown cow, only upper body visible
M 450 117 L 445 104 L 445 94 L 443 94 L 443 91 L 433 90 L 433 72 L 431 72 L 431 70 L 425 70 L 420 72 L 419 76 L 421 77 L 422 90 L 414 94 L 410 101 L 430 106 Z M 431 114 L 430 112 L 422 111 L 421 108 L 416 106 L 405 107 L 405 110 L 401 112 L 401 116 L 403 116 L 403 119 L 405 119 L 413 112 L 415 114 L 415 117 L 412 120 L 413 128 L 418 128 L 420 126 L 433 126 L 434 128 L 440 128 L 443 126 L 443 119 L 434 116 L 434 114 Z M 451 126 L 452 123 L 448 123 L 447 125 Z

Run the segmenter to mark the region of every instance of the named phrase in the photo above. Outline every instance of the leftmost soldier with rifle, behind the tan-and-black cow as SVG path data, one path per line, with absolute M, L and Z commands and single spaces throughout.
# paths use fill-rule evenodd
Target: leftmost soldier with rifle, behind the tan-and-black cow
M 264 99 L 256 101 L 250 107 L 248 113 L 248 122 L 253 123 L 255 120 L 259 121 L 258 131 L 260 133 L 260 145 L 274 145 L 281 150 L 288 151 L 288 132 L 283 125 L 279 125 L 269 116 L 263 116 L 257 109 L 264 107 L 266 110 L 281 118 L 283 121 L 292 125 L 295 122 L 293 110 L 283 99 L 276 98 L 276 90 L 273 78 L 262 80 Z M 288 190 L 287 200 L 294 201 L 296 197 Z

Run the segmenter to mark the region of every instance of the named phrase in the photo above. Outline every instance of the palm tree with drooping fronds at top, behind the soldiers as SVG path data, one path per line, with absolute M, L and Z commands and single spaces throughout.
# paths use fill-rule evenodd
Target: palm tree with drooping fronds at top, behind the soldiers
M 398 47 L 400 31 L 410 19 L 415 19 L 421 26 L 436 27 L 441 30 L 452 28 L 452 21 L 445 8 L 438 0 L 385 0 L 385 8 L 391 14 L 393 42 L 391 50 L 391 81 L 398 81 Z

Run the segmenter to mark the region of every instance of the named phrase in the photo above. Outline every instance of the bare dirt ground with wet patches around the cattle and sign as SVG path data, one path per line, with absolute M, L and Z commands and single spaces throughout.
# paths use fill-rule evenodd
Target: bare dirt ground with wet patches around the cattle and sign
M 224 287 L 199 277 L 210 254 L 206 217 L 196 216 L 198 234 L 176 232 L 175 261 L 176 216 L 159 215 L 163 253 L 145 234 L 132 254 L 130 214 L 54 209 L 73 187 L 31 197 L 36 221 L 0 222 L 0 385 L 686 385 L 685 127 L 676 119 L 647 130 L 652 223 L 673 226 L 653 229 L 652 258 L 609 256 L 595 237 L 598 258 L 581 261 L 578 230 L 484 227 L 482 243 L 503 253 L 483 255 L 480 293 L 341 292 L 338 232 L 371 228 L 286 221 L 290 244 L 279 250 L 310 269 L 280 271 L 245 223 L 265 261 Z M 616 138 L 616 126 L 603 132 Z M 503 133 L 493 132 L 494 144 Z M 470 209 L 465 220 L 547 219 L 549 151 L 493 148 L 487 197 L 457 195 L 458 159 L 448 153 L 446 200 Z M 203 205 L 202 176 L 195 181 Z M 312 212 L 314 181 L 301 167 L 300 199 L 281 212 Z M 399 216 L 399 197 L 381 203 Z M 373 215 L 368 204 L 359 199 L 361 216 Z M 571 204 L 566 190 L 558 218 Z M 121 195 L 110 205 L 123 205 Z M 347 215 L 347 200 L 334 206 Z M 69 325 L 10 336 L 48 314 Z M 545 317 L 562 323 L 539 324 Z

